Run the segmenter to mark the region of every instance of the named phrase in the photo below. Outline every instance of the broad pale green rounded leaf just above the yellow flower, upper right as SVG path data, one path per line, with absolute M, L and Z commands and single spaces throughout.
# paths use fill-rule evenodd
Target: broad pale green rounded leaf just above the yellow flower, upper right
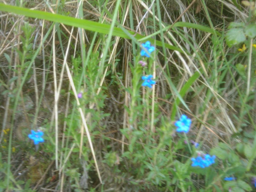
M 246 36 L 243 32 L 243 28 L 232 28 L 228 30 L 226 34 L 226 42 L 228 47 L 237 45 L 246 40 Z

